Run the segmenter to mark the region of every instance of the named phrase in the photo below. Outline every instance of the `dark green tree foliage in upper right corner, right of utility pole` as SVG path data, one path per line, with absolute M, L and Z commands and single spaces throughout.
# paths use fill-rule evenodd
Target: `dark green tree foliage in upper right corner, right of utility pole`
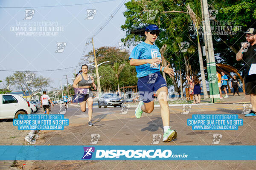
M 212 37 L 216 62 L 231 65 L 240 74 L 243 73 L 243 62 L 236 61 L 236 53 L 241 48 L 240 42 L 245 42 L 244 31 L 248 28 L 256 28 L 256 2 L 252 0 L 210 0 L 212 4 L 209 9 L 218 10 L 215 22 L 230 21 L 233 26 L 226 32 L 235 32 L 234 25 L 242 26 L 242 31 L 237 31 L 236 35 L 214 35 Z

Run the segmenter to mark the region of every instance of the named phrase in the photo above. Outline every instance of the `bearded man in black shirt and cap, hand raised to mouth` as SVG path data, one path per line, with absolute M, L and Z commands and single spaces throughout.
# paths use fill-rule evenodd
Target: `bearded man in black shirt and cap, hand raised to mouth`
M 250 43 L 250 46 L 244 43 L 236 54 L 236 60 L 245 62 L 245 94 L 250 94 L 250 102 L 252 104 L 252 110 L 245 116 L 256 116 L 256 74 L 249 75 L 249 71 L 253 67 L 252 64 L 256 64 L 256 29 L 249 28 L 245 34 L 246 41 Z

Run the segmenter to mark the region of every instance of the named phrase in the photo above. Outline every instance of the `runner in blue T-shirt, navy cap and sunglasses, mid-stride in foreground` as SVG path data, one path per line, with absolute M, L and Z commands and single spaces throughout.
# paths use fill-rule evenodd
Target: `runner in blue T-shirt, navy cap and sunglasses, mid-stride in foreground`
M 161 106 L 161 117 L 163 121 L 163 142 L 170 142 L 177 137 L 177 131 L 170 129 L 170 111 L 167 101 L 168 89 L 166 81 L 160 74 L 164 71 L 169 76 L 174 76 L 174 71 L 160 66 L 162 57 L 159 48 L 154 45 L 157 36 L 160 33 L 158 26 L 151 24 L 143 30 L 146 36 L 145 42 L 141 42 L 131 52 L 129 57 L 130 65 L 136 66 L 138 89 L 143 101 L 139 102 L 135 110 L 135 116 L 139 119 L 142 113 L 151 113 L 154 110 L 154 95 Z

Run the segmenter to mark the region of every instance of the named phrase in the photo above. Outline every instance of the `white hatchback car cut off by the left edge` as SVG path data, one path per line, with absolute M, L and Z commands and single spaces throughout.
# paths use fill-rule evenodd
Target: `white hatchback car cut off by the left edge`
M 17 119 L 19 114 L 30 114 L 30 104 L 17 94 L 0 94 L 0 119 Z

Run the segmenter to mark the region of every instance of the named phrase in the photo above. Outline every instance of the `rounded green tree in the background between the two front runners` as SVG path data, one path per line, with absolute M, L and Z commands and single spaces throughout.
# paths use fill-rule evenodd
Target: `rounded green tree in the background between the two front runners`
M 88 64 L 88 58 L 93 56 L 90 51 L 82 59 L 81 64 Z M 115 91 L 121 86 L 137 85 L 137 77 L 135 67 L 129 65 L 128 51 L 119 52 L 116 47 L 100 47 L 96 48 L 97 63 L 109 61 L 98 67 L 101 88 L 104 91 Z M 92 63 L 94 64 L 94 63 Z M 89 74 L 96 75 L 95 68 L 89 65 Z M 95 84 L 97 84 L 95 77 Z

